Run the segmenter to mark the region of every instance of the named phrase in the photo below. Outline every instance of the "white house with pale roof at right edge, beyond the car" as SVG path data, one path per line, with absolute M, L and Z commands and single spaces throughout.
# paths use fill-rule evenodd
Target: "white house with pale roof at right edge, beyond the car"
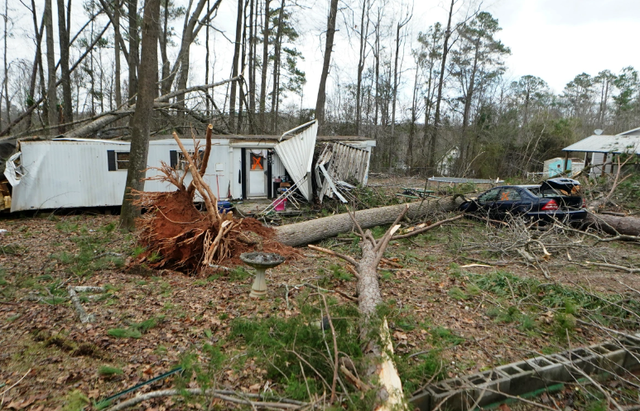
M 616 135 L 594 134 L 563 148 L 562 151 L 566 153 L 565 161 L 568 161 L 571 153 L 584 153 L 584 167 L 591 167 L 590 176 L 615 173 L 615 156 L 640 155 L 640 127 Z

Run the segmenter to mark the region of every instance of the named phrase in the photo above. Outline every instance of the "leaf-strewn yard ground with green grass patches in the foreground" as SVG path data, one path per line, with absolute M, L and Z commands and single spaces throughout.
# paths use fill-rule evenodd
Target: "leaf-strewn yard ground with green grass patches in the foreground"
M 301 250 L 268 272 L 267 296 L 253 300 L 248 268 L 187 277 L 130 267 L 142 250 L 116 224 L 117 217 L 104 215 L 0 220 L 6 230 L 0 233 L 4 406 L 97 409 L 108 396 L 178 366 L 183 373 L 137 392 L 213 387 L 323 404 L 333 376 L 333 341 L 321 326 L 327 309 L 341 357 L 362 371 L 358 313 L 347 298 L 355 294 L 355 277 L 341 260 Z M 407 394 L 436 379 L 608 338 L 581 321 L 637 329 L 638 295 L 621 284 L 637 283 L 637 275 L 571 263 L 564 251 L 552 250 L 544 263 L 547 279 L 535 266 L 477 246 L 503 235 L 499 227 L 459 220 L 391 242 L 379 271 L 380 313 L 389 319 Z M 345 235 L 321 245 L 357 255 L 357 243 Z M 640 262 L 633 244 L 599 244 L 593 252 L 627 265 Z M 479 260 L 500 265 L 468 266 Z M 69 302 L 67 287 L 78 285 L 106 290 L 81 294 L 94 323 L 81 324 Z M 373 401 L 347 380 L 339 392 L 345 409 L 366 409 Z M 571 398 L 575 405 L 567 406 L 575 409 L 601 404 L 597 393 Z M 243 406 L 177 396 L 140 409 L 230 407 Z

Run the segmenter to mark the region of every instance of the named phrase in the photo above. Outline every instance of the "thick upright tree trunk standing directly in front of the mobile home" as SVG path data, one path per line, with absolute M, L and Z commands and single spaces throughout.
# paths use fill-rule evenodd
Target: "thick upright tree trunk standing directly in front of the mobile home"
M 140 208 L 133 205 L 132 191 L 144 190 L 143 178 L 149 152 L 149 129 L 153 115 L 154 97 L 157 93 L 159 19 L 160 0 L 147 0 L 142 21 L 142 61 L 144 64 L 140 67 L 138 102 L 131 120 L 129 169 L 120 215 L 121 227 L 128 230 L 135 228 L 135 219 L 140 215 Z

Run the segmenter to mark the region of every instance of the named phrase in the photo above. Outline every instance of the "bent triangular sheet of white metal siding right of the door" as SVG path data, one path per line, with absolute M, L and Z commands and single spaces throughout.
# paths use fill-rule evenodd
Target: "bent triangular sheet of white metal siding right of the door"
M 284 164 L 294 183 L 298 184 L 300 193 L 307 201 L 312 199 L 311 164 L 317 134 L 318 122 L 316 121 L 301 133 L 279 142 L 274 147 L 280 161 Z

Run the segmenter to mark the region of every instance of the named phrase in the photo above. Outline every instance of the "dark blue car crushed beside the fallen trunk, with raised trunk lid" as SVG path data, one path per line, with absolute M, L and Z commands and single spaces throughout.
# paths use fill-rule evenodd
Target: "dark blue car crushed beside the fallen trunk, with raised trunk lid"
M 465 201 L 460 209 L 493 220 L 521 215 L 531 220 L 570 222 L 587 216 L 580 183 L 570 178 L 552 178 L 539 185 L 494 187 Z

